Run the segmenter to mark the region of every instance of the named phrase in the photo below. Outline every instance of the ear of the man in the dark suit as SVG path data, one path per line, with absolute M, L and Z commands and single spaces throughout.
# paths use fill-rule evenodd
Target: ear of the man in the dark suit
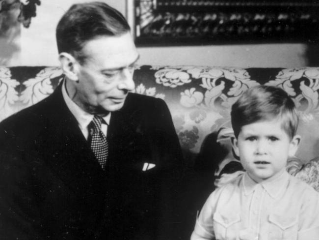
M 70 80 L 78 81 L 78 61 L 68 53 L 60 53 L 59 60 L 65 76 Z

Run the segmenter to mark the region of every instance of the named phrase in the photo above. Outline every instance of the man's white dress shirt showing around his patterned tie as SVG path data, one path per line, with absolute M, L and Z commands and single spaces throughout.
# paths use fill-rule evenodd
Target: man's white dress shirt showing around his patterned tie
M 72 99 L 69 97 L 69 95 L 67 93 L 67 90 L 65 87 L 65 80 L 63 80 L 63 81 L 64 82 L 62 84 L 62 95 L 63 95 L 64 101 L 65 101 L 67 107 L 69 108 L 69 110 L 71 111 L 71 113 L 74 115 L 74 117 L 78 121 L 81 132 L 83 133 L 83 136 L 87 140 L 88 136 L 89 136 L 89 131 L 88 131 L 87 126 L 93 120 L 94 115 L 85 112 L 74 101 L 72 101 Z M 109 113 L 106 116 L 102 116 L 102 118 L 105 120 L 106 124 L 102 123 L 101 130 L 106 136 L 107 135 L 107 126 L 109 125 L 111 113 Z

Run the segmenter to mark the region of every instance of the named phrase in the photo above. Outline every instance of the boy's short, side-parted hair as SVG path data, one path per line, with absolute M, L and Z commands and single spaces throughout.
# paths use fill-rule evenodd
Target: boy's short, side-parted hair
M 295 105 L 287 92 L 264 85 L 245 91 L 233 104 L 231 118 L 236 138 L 242 126 L 261 120 L 280 119 L 290 138 L 293 138 L 298 126 Z

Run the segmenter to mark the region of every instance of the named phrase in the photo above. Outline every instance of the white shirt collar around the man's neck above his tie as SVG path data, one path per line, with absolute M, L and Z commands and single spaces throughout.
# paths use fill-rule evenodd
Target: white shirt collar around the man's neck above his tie
M 85 112 L 69 97 L 65 85 L 66 85 L 66 80 L 64 79 L 63 83 L 62 83 L 63 99 L 64 99 L 67 107 L 71 111 L 71 113 L 74 115 L 74 117 L 78 121 L 80 128 L 85 129 L 85 128 L 87 128 L 88 124 L 90 124 L 90 122 L 93 120 L 94 115 Z M 109 125 L 111 113 L 107 114 L 106 116 L 104 116 L 102 118 L 105 120 L 106 124 Z

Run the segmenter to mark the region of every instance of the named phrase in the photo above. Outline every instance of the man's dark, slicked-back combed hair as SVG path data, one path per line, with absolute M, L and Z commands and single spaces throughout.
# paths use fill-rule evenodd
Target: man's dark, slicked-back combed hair
M 120 36 L 130 31 L 124 16 L 104 2 L 88 2 L 72 5 L 56 27 L 59 53 L 73 55 L 82 63 L 84 44 L 98 36 Z

